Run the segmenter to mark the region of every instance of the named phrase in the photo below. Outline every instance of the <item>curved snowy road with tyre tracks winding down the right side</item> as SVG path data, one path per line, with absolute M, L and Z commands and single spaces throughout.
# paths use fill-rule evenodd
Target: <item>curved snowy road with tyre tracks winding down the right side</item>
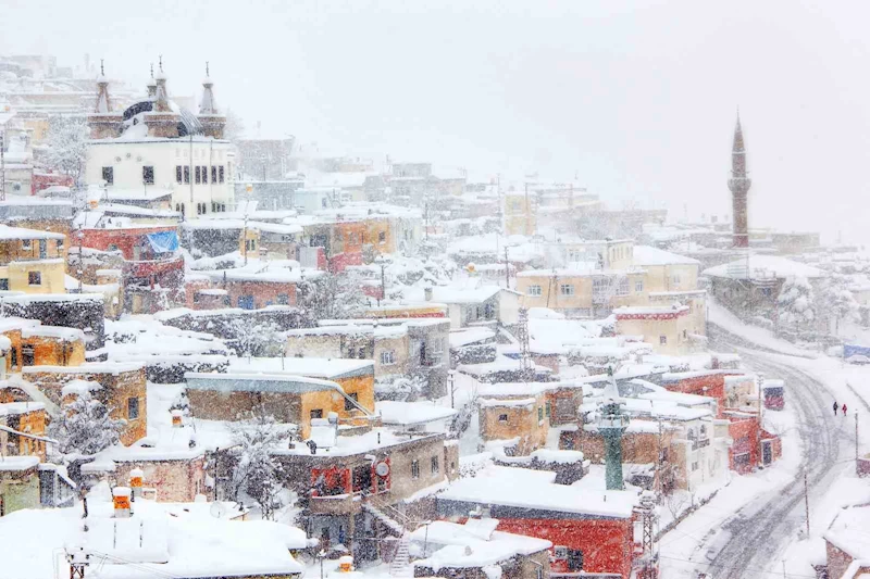
M 751 343 L 710 324 L 713 351 L 741 349 L 744 364 L 770 378 L 786 382 L 786 404 L 795 410 L 801 441 L 803 463 L 807 467 L 810 496 L 813 489 L 823 490 L 835 478 L 840 460 L 842 420 L 830 408 L 833 397 L 826 388 L 782 362 L 759 353 Z M 812 505 L 810 502 L 810 517 Z M 779 562 L 778 554 L 805 525 L 804 477 L 798 474 L 780 492 L 763 495 L 745 505 L 722 527 L 729 540 L 713 556 L 707 572 L 716 579 L 765 577 L 762 570 Z

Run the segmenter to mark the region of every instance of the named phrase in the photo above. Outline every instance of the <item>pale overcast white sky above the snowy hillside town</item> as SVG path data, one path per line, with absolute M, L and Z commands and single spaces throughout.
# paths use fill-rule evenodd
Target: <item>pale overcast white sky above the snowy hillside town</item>
M 107 61 L 171 93 L 211 62 L 219 104 L 249 134 L 340 153 L 587 184 L 730 213 L 739 106 L 749 224 L 870 242 L 866 2 L 124 2 L 7 5 L 0 52 Z M 437 5 L 436 5 L 437 4 Z

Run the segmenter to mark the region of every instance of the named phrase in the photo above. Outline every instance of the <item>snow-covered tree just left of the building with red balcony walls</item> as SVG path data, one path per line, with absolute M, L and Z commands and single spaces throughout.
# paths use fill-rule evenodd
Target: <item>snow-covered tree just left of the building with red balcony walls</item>
M 260 505 L 264 519 L 271 519 L 282 490 L 282 466 L 271 454 L 290 436 L 290 430 L 278 425 L 262 407 L 247 420 L 231 425 L 233 442 L 238 446 L 238 462 L 233 469 L 232 490 L 236 499 L 245 494 Z

